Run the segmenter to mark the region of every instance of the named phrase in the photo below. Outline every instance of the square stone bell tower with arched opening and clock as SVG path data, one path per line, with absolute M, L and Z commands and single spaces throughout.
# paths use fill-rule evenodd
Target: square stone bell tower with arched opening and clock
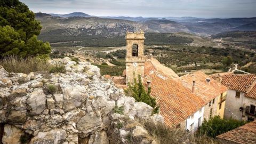
M 126 83 L 133 83 L 134 76 L 144 75 L 144 32 L 126 33 Z

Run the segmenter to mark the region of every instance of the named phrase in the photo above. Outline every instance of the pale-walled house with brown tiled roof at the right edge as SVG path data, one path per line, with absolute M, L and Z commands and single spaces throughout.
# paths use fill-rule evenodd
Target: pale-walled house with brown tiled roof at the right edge
M 228 87 L 224 117 L 254 121 L 256 118 L 256 75 L 226 73 L 212 75 Z

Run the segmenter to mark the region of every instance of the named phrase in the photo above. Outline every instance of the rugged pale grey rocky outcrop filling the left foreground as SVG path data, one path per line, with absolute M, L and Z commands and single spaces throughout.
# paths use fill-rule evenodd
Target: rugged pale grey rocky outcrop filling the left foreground
M 98 67 L 70 58 L 50 60 L 63 64 L 66 73 L 7 73 L 0 66 L 0 123 L 3 143 L 113 143 L 111 133 L 127 142 L 127 134 L 154 142 L 134 119 L 163 122 L 151 116 L 153 108 L 126 97 L 123 90 L 100 76 Z M 49 91 L 49 86 L 55 91 Z M 113 112 L 124 107 L 124 115 Z M 120 127 L 121 123 L 130 127 Z M 117 126 L 119 124 L 119 126 Z M 131 126 L 132 125 L 132 126 Z

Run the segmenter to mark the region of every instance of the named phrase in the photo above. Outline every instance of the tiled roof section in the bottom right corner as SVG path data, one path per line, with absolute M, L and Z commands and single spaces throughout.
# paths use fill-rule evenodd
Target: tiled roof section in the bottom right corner
M 247 123 L 229 132 L 217 136 L 220 140 L 233 143 L 251 144 L 256 143 L 256 121 Z

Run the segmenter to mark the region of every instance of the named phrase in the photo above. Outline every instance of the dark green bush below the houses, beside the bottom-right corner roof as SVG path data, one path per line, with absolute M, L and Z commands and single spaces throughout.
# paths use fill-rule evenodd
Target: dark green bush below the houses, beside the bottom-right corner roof
M 221 133 L 228 132 L 236 129 L 239 126 L 246 124 L 245 121 L 238 121 L 236 119 L 222 119 L 220 116 L 214 116 L 209 121 L 204 121 L 202 126 L 199 128 L 199 134 L 206 134 L 209 137 L 215 138 Z

